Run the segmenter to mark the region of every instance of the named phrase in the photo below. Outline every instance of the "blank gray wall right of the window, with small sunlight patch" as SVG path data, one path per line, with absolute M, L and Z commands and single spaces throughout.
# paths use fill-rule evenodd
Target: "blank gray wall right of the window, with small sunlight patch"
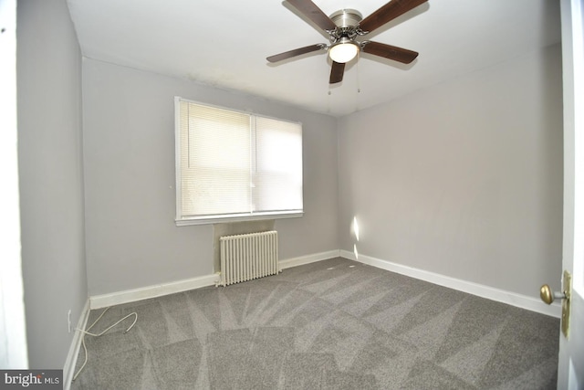
M 561 51 L 547 47 L 339 121 L 339 239 L 536 296 L 562 248 Z M 556 283 L 558 288 L 558 283 Z

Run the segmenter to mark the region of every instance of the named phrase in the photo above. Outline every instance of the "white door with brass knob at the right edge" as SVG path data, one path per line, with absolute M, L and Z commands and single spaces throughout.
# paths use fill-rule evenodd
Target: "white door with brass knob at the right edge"
M 584 389 L 584 45 L 582 0 L 561 0 L 564 87 L 563 268 L 571 274 L 568 337 L 559 335 L 558 389 Z M 565 286 L 562 286 L 562 290 Z

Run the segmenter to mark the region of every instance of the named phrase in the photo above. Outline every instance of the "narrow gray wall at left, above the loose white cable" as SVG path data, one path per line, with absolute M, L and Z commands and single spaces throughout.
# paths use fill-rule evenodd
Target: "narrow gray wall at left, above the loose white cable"
M 63 368 L 88 299 L 81 53 L 64 0 L 17 5 L 18 153 L 29 365 Z

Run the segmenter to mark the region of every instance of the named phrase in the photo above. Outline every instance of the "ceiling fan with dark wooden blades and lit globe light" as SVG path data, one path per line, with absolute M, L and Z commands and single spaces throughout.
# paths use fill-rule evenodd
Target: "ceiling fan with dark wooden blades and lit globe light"
M 370 16 L 363 19 L 360 12 L 354 9 L 341 9 L 327 16 L 310 0 L 287 0 L 301 14 L 307 16 L 318 27 L 325 30 L 328 33 L 330 43 L 318 43 L 307 47 L 299 47 L 270 56 L 266 59 L 269 62 L 278 62 L 283 59 L 326 49 L 328 50 L 328 57 L 332 60 L 330 78 L 328 79 L 330 84 L 342 81 L 345 64 L 355 58 L 360 51 L 409 64 L 418 57 L 417 52 L 370 40 L 358 41 L 357 38 L 369 34 L 373 30 L 427 1 L 391 0 Z

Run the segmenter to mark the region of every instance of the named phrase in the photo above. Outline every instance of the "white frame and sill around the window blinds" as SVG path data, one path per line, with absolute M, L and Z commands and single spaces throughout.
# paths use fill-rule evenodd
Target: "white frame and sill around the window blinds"
M 304 216 L 304 158 L 303 150 L 301 150 L 300 162 L 302 164 L 302 208 L 299 210 L 278 210 L 278 211 L 258 211 L 249 213 L 236 213 L 236 214 L 222 214 L 222 215 L 208 215 L 208 216 L 184 216 L 183 215 L 183 183 L 182 183 L 182 163 L 181 163 L 181 102 L 198 104 L 205 107 L 210 107 L 219 110 L 233 111 L 237 113 L 242 113 L 249 115 L 250 122 L 255 123 L 255 118 L 267 118 L 275 121 L 282 121 L 288 123 L 294 123 L 300 126 L 300 134 L 303 137 L 302 122 L 300 121 L 287 121 L 280 118 L 270 117 L 267 115 L 259 115 L 250 111 L 239 111 L 223 106 L 218 106 L 214 104 L 208 104 L 196 100 L 188 100 L 181 98 L 179 96 L 174 97 L 174 156 L 175 156 L 175 195 L 176 195 L 176 214 L 174 222 L 177 227 L 193 226 L 193 225 L 210 225 L 216 223 L 229 223 L 229 222 L 241 222 L 241 221 L 254 221 L 254 220 L 265 220 L 265 219 L 280 219 L 280 218 L 295 218 Z

